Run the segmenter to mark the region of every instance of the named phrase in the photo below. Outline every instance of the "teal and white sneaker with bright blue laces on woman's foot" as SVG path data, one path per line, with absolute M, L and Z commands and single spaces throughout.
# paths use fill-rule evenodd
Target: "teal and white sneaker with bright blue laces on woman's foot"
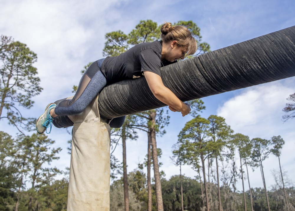
M 52 120 L 55 119 L 50 116 L 49 111 L 53 108 L 56 107 L 55 103 L 49 103 L 46 108 L 45 112 L 39 117 L 39 119 L 36 122 L 36 130 L 39 134 L 42 134 L 46 131 L 47 133 L 47 128 L 50 127 L 50 131 L 52 128 Z M 49 133 L 50 133 L 49 131 Z M 47 133 L 48 134 L 48 133 Z

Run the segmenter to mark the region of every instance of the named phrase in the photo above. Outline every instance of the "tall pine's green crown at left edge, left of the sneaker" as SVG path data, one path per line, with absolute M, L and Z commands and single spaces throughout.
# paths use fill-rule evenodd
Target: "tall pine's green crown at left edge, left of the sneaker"
M 26 44 L 4 35 L 0 50 L 0 120 L 7 119 L 19 131 L 19 127 L 30 130 L 34 119 L 23 117 L 17 106 L 31 108 L 34 103 L 31 98 L 42 90 L 37 69 L 32 66 L 37 55 Z

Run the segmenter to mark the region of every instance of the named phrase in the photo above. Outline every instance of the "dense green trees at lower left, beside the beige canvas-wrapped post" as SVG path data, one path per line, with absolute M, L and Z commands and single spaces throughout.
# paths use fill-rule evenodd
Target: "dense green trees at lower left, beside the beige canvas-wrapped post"
M 14 210 L 16 205 L 17 210 L 28 210 L 28 204 L 33 210 L 66 209 L 66 205 L 56 204 L 66 204 L 68 181 L 56 181 L 54 177 L 60 171 L 47 167 L 59 158 L 56 154 L 60 148 L 50 150 L 54 142 L 44 134 L 22 134 L 14 140 L 9 134 L 0 132 L 1 210 Z M 26 190 L 27 185 L 32 188 Z M 64 187 L 66 192 L 62 194 L 60 190 Z

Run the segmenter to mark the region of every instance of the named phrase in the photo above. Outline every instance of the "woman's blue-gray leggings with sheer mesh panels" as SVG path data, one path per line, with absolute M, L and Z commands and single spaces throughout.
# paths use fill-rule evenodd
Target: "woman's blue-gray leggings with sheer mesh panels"
M 100 71 L 104 59 L 93 62 L 83 74 L 77 92 L 73 99 L 62 100 L 55 107 L 57 115 L 71 116 L 84 111 L 84 109 L 96 98 L 99 92 L 106 86 L 106 78 Z M 125 116 L 114 118 L 110 126 L 121 127 L 124 123 Z

